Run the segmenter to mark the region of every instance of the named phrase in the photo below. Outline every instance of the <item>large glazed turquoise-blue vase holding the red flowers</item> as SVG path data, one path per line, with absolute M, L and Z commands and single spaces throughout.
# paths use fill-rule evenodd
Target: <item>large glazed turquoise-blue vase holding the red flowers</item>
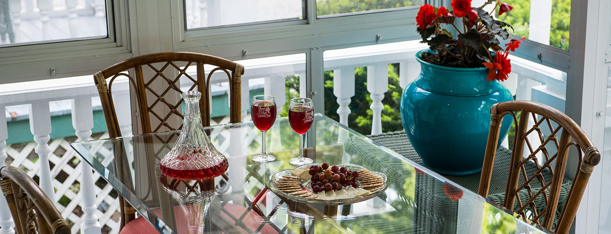
M 481 171 L 490 129 L 490 108 L 513 100 L 507 87 L 487 81 L 485 67 L 455 68 L 420 59 L 420 75 L 403 90 L 401 121 L 424 166 L 443 175 Z M 505 115 L 499 145 L 513 119 Z

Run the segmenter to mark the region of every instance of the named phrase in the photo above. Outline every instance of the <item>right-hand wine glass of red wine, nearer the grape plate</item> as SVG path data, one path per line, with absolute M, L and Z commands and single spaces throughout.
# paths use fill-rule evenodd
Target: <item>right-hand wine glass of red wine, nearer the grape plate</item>
M 299 157 L 288 161 L 292 166 L 301 166 L 312 163 L 311 158 L 304 158 L 304 134 L 314 122 L 314 109 L 312 99 L 293 98 L 288 108 L 288 123 L 295 133 L 299 134 Z

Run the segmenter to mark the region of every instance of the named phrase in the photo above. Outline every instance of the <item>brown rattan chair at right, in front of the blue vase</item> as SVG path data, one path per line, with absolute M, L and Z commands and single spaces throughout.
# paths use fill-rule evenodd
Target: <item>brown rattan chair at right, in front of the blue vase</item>
M 558 198 L 560 197 L 560 187 L 565 176 L 569 147 L 573 145 L 579 155 L 578 170 L 566 203 L 562 208 L 560 220 L 555 226 L 556 233 L 568 233 L 592 170 L 601 160 L 598 149 L 577 123 L 557 109 L 544 104 L 533 101 L 507 101 L 494 104 L 490 111 L 490 132 L 481 172 L 479 194 L 483 197 L 488 196 L 501 122 L 503 116 L 510 114 L 516 125 L 516 134 L 503 207 L 518 213 L 520 218 L 527 222 L 534 222 L 551 230 L 554 224 Z M 519 117 L 516 117 L 516 115 L 519 115 Z M 532 118 L 535 123 L 530 128 L 529 118 Z M 547 129 L 549 132 L 541 131 L 541 128 Z M 557 137 L 561 129 L 562 134 Z M 536 144 L 529 141 L 529 137 L 527 137 L 529 134 L 535 134 Z M 551 155 L 548 152 L 550 147 L 557 148 L 557 153 Z M 526 158 L 522 157 L 524 148 L 527 148 L 530 152 Z M 540 158 L 537 158 L 537 154 L 543 158 L 542 164 L 540 164 Z M 531 160 L 538 170 L 533 175 L 527 175 L 524 164 Z M 552 180 L 544 180 L 541 174 L 546 170 L 552 174 Z M 531 189 L 530 183 L 540 184 L 540 189 Z M 524 189 L 528 196 L 516 196 Z M 546 207 L 535 206 L 534 200 L 541 196 L 546 201 Z M 518 200 L 517 203 L 516 200 Z

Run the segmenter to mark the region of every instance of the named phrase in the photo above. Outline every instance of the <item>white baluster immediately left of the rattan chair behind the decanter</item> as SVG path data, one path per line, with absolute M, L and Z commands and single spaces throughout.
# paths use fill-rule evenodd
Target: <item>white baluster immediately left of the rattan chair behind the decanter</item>
M 77 98 L 72 100 L 72 126 L 76 130 L 77 141 L 87 141 L 91 137 L 93 128 L 93 108 L 91 98 Z M 98 216 L 95 215 L 95 186 L 93 186 L 92 169 L 89 164 L 81 160 L 81 196 L 82 216 L 81 233 L 101 233 Z

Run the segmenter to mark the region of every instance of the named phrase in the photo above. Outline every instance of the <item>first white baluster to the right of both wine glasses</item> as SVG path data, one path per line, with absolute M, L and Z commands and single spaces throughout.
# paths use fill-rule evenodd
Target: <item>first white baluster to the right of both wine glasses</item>
M 333 94 L 337 97 L 337 114 L 340 115 L 340 123 L 348 126 L 348 115 L 350 114 L 350 98 L 354 96 L 354 67 L 343 67 L 333 71 Z

